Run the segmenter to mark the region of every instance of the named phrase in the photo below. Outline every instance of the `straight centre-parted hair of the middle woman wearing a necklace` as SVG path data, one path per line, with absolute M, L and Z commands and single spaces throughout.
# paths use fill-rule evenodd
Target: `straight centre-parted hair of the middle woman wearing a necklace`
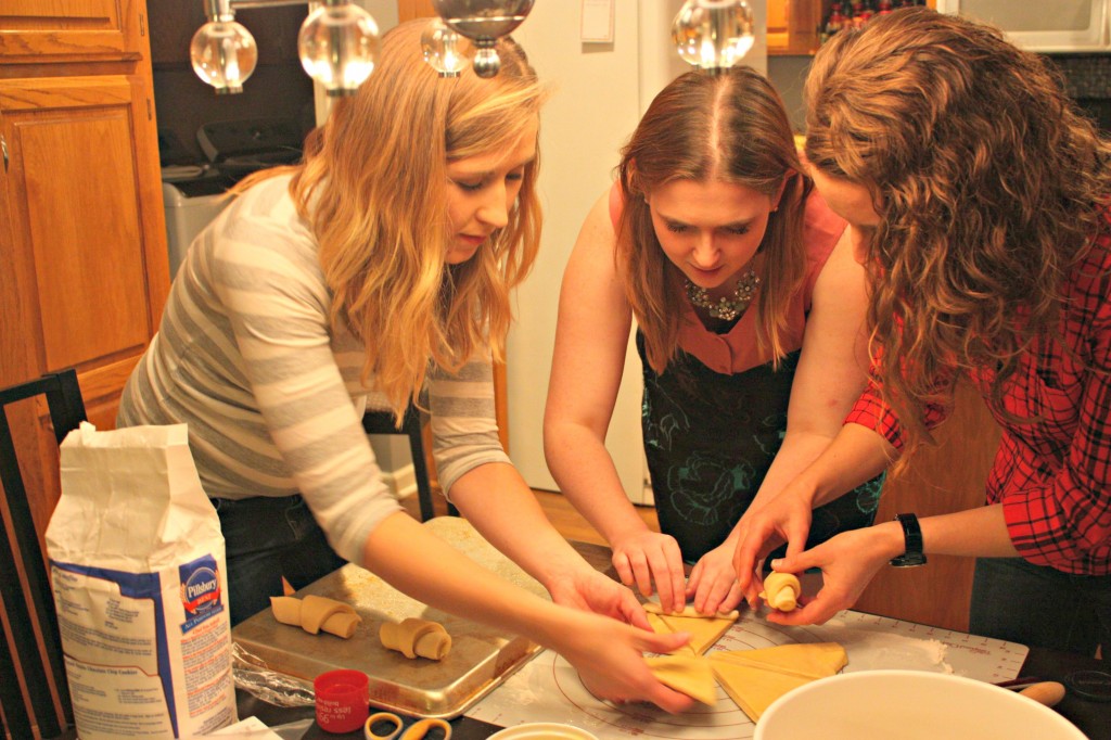
M 758 311 L 758 341 L 778 362 L 790 298 L 805 277 L 802 221 L 810 180 L 803 178 L 783 102 L 771 83 L 748 67 L 712 77 L 688 72 L 649 106 L 621 152 L 618 167 L 624 209 L 618 224 L 618 273 L 644 334 L 649 364 L 663 372 L 679 347 L 685 298 L 674 290 L 679 268 L 668 259 L 647 196 L 675 180 L 718 180 L 774 198 L 779 210 L 760 244 L 765 254 Z

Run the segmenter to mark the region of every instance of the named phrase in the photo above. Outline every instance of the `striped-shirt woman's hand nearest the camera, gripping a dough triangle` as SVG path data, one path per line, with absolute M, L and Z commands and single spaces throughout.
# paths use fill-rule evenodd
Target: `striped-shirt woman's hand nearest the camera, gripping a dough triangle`
M 644 662 L 645 652 L 669 653 L 687 644 L 690 636 L 654 634 L 594 614 L 560 636 L 556 651 L 579 671 L 594 697 L 608 701 L 648 701 L 678 713 L 694 700 L 660 683 Z

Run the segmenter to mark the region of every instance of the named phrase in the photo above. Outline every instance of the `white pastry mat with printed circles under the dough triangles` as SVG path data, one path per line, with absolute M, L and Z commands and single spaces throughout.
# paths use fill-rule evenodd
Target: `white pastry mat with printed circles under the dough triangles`
M 811 627 L 771 624 L 743 610 L 711 650 L 772 648 L 792 642 L 841 643 L 849 656 L 849 664 L 842 669 L 845 673 L 899 668 L 991 682 L 1017 677 L 1029 652 L 1025 646 L 1014 642 L 851 610 Z M 472 707 L 467 716 L 504 727 L 563 722 L 588 730 L 600 740 L 740 740 L 755 732 L 755 724 L 720 686 L 713 707 L 700 703 L 682 714 L 668 714 L 647 703 L 617 704 L 594 698 L 582 686 L 578 672 L 550 650 Z

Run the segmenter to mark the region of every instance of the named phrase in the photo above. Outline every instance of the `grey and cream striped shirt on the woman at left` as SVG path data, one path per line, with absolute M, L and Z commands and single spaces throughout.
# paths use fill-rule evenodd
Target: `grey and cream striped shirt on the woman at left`
M 384 404 L 360 381 L 363 343 L 330 326 L 317 241 L 288 187 L 288 176 L 258 183 L 194 240 L 118 423 L 188 424 L 210 498 L 300 493 L 332 548 L 361 564 L 371 531 L 400 510 L 361 426 L 368 398 Z M 427 390 L 446 492 L 509 461 L 489 357 L 433 369 Z

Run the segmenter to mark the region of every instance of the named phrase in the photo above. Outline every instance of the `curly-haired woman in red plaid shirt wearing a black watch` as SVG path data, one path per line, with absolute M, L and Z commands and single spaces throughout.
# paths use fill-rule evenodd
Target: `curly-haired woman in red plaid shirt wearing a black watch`
M 873 382 L 832 446 L 747 522 L 737 572 L 822 591 L 772 614 L 819 623 L 892 559 L 978 557 L 970 630 L 1092 654 L 1111 648 L 1111 146 L 1049 63 L 924 8 L 839 33 L 807 82 L 807 158 L 872 277 Z M 802 551 L 810 511 L 895 472 L 957 379 L 1002 429 L 987 506 L 845 532 Z M 921 559 L 921 558 L 919 558 Z M 1074 609 L 1069 608 L 1075 604 Z

